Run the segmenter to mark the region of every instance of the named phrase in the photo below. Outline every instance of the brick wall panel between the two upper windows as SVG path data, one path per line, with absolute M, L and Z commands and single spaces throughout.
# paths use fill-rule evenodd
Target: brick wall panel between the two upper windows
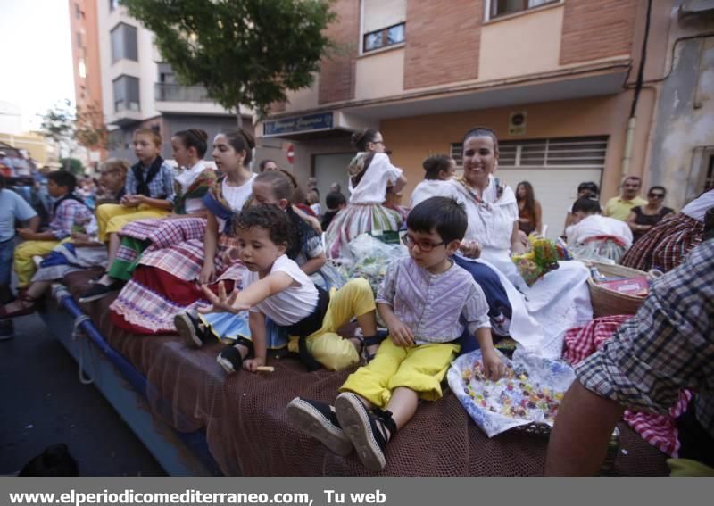
M 483 19 L 483 0 L 409 0 L 404 89 L 477 79 Z

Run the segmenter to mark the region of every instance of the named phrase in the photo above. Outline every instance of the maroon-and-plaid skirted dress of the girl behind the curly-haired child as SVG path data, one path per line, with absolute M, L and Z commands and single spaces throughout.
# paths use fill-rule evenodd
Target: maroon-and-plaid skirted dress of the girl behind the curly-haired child
M 226 263 L 223 253 L 237 246 L 233 216 L 250 197 L 253 178 L 240 187 L 228 186 L 226 178 L 220 178 L 203 197 L 206 209 L 219 225 L 213 260 L 216 282 L 225 280 L 227 290 L 240 283 L 245 271 L 239 261 Z M 174 333 L 176 314 L 207 304 L 197 282 L 204 262 L 203 237 L 184 242 L 174 240 L 168 246 L 166 242 L 163 241 L 165 247 L 152 244 L 145 250 L 129 283 L 112 303 L 112 322 L 118 327 L 137 334 Z

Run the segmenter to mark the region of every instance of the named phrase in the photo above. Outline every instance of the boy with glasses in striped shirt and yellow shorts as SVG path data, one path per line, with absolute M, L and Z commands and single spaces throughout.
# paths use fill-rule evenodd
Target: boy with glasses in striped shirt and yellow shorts
M 489 378 L 503 374 L 486 295 L 450 258 L 467 224 L 466 212 L 447 197 L 431 197 L 411 210 L 403 237 L 410 256 L 390 264 L 378 290 L 389 337 L 377 356 L 347 377 L 334 407 L 300 397 L 287 405 L 288 418 L 303 432 L 339 455 L 354 448 L 371 471 L 384 469 L 386 444 L 414 416 L 419 398 L 441 398 L 465 326 L 477 338 Z

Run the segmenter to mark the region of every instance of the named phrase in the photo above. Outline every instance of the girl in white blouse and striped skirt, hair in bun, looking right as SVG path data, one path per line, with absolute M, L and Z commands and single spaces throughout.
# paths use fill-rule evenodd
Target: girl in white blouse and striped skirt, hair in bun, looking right
M 359 153 L 350 162 L 350 200 L 329 225 L 325 244 L 328 256 L 349 259 L 350 241 L 373 230 L 397 231 L 403 214 L 384 205 L 387 187 L 399 193 L 406 185 L 402 170 L 394 167 L 385 153 L 385 143 L 378 130 L 365 129 L 353 135 Z

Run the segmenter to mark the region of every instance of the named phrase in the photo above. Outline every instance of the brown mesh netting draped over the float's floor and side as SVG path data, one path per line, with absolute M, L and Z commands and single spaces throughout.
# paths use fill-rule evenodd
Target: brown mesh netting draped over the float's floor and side
M 87 288 L 90 274 L 65 281 L 71 293 Z M 332 402 L 352 369 L 305 372 L 299 361 L 269 358 L 275 372 L 228 376 L 216 363 L 220 344 L 201 350 L 185 347 L 176 336 L 135 336 L 112 327 L 112 297 L 82 304 L 109 344 L 142 372 L 154 415 L 179 431 L 205 429 L 213 458 L 226 475 L 369 475 L 350 455 L 338 457 L 299 434 L 286 419 L 295 396 Z M 614 474 L 666 475 L 665 456 L 621 423 Z M 527 476 L 543 472 L 547 440 L 505 433 L 493 439 L 469 419 L 456 396 L 423 402 L 416 416 L 387 446 L 390 476 Z

